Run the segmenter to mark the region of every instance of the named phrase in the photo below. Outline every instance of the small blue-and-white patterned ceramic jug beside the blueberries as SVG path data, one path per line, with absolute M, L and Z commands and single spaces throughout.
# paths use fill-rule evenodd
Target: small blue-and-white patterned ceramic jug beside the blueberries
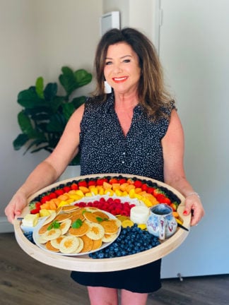
M 148 232 L 163 240 L 172 236 L 177 229 L 177 221 L 172 215 L 172 208 L 165 203 L 159 203 L 150 208 L 146 222 Z

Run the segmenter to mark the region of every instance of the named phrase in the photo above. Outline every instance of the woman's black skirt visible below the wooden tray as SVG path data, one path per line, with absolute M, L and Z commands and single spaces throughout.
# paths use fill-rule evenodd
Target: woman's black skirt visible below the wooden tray
M 161 260 L 127 270 L 88 273 L 72 271 L 71 278 L 78 284 L 93 287 L 126 289 L 131 292 L 151 293 L 160 289 Z

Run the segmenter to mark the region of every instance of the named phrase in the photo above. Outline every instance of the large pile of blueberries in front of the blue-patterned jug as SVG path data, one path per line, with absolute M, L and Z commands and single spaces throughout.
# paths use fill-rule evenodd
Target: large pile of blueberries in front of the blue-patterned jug
M 143 231 L 136 224 L 122 228 L 119 237 L 110 246 L 90 253 L 90 258 L 115 258 L 146 251 L 158 246 L 160 241 L 147 231 Z

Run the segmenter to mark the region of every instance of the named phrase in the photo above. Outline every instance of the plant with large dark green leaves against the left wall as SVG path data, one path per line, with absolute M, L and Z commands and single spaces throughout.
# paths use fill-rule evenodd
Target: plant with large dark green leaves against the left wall
M 78 88 L 88 85 L 92 74 L 84 69 L 76 71 L 64 66 L 61 68 L 59 83 L 65 94 L 58 95 L 57 83 L 47 83 L 38 77 L 35 85 L 18 93 L 18 104 L 23 109 L 18 114 L 21 133 L 13 140 L 13 148 L 25 152 L 47 150 L 52 152 L 59 142 L 71 114 L 85 102 L 85 96 L 73 97 Z M 79 155 L 71 161 L 79 165 Z

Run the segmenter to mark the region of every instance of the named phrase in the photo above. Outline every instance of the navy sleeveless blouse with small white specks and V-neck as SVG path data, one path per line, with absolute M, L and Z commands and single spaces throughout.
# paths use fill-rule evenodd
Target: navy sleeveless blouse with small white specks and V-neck
M 175 109 L 174 102 L 171 103 L 162 109 L 168 118 Z M 131 126 L 124 136 L 114 111 L 113 93 L 99 104 L 88 97 L 81 121 L 81 175 L 133 174 L 164 181 L 161 140 L 168 124 L 165 117 L 148 119 L 143 107 L 136 105 Z

